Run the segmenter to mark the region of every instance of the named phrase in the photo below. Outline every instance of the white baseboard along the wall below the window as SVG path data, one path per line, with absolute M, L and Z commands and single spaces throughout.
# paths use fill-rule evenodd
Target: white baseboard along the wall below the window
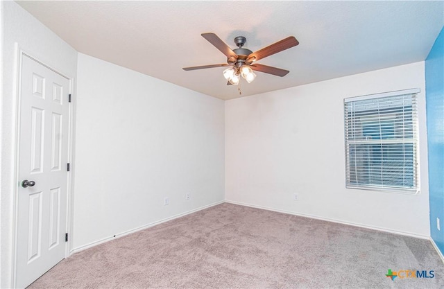
M 355 223 L 355 222 L 346 222 L 346 221 L 343 221 L 343 220 L 336 220 L 336 219 L 331 219 L 331 218 L 323 218 L 323 217 L 309 215 L 309 214 L 305 214 L 305 213 L 296 213 L 296 212 L 293 212 L 293 211 L 285 211 L 285 210 L 275 209 L 275 208 L 270 208 L 270 207 L 257 206 L 255 204 L 247 204 L 247 203 L 244 203 L 244 202 L 236 202 L 236 201 L 230 201 L 230 200 L 225 200 L 225 202 L 228 202 L 230 204 L 239 204 L 241 206 L 252 207 L 252 208 L 256 208 L 256 209 L 264 209 L 264 210 L 267 210 L 267 211 L 275 211 L 275 212 L 278 212 L 278 213 L 288 213 L 288 214 L 294 215 L 294 216 L 300 216 L 300 217 L 305 217 L 305 218 L 312 218 L 312 219 L 323 220 L 323 221 L 327 221 L 327 222 L 336 222 L 336 223 L 343 224 L 343 225 L 350 225 L 350 226 L 361 227 L 361 228 L 365 228 L 365 229 L 373 229 L 373 230 L 376 230 L 376 231 L 384 231 L 386 233 L 391 233 L 391 234 L 409 236 L 409 237 L 414 237 L 414 238 L 421 238 L 421 239 L 426 239 L 426 240 L 429 240 L 429 238 L 430 238 L 430 236 L 418 235 L 418 234 L 413 234 L 413 233 L 409 233 L 409 232 L 405 232 L 405 231 L 395 231 L 395 230 L 392 230 L 392 229 L 386 229 L 386 228 L 381 228 L 381 227 L 373 227 L 373 226 L 368 226 L 368 225 L 364 225 L 364 224 L 358 224 L 358 223 Z

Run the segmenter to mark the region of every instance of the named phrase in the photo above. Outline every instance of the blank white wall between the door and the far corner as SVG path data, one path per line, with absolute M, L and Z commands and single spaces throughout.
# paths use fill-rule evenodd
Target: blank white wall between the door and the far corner
M 77 88 L 74 250 L 223 202 L 223 100 L 81 53 Z

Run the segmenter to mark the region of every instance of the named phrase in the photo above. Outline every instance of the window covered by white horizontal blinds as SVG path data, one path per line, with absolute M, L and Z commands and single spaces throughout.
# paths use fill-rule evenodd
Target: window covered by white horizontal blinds
M 418 92 L 345 98 L 348 188 L 418 192 Z

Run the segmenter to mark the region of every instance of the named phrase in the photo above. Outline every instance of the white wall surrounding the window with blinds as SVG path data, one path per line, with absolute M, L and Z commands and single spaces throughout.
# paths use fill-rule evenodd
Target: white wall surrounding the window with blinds
M 226 101 L 226 200 L 429 236 L 424 78 L 418 62 Z M 420 194 L 345 189 L 343 98 L 414 87 Z

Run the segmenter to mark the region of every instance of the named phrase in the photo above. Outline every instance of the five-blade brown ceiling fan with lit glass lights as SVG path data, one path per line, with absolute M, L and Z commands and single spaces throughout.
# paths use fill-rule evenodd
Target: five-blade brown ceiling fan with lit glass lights
M 208 40 L 208 42 L 213 44 L 216 49 L 219 49 L 219 51 L 225 54 L 227 57 L 227 63 L 210 64 L 199 67 L 184 67 L 183 70 L 189 71 L 213 67 L 228 67 L 228 69 L 223 71 L 223 76 L 228 80 L 227 85 L 238 85 L 239 80 L 241 79 L 240 76 L 245 78 L 248 83 L 252 82 L 256 78 L 256 74 L 253 70 L 273 74 L 274 76 L 286 76 L 290 71 L 277 67 L 268 67 L 264 64 L 258 64 L 256 61 L 299 44 L 295 37 L 290 36 L 253 52 L 250 51 L 250 49 L 242 48 L 246 42 L 246 37 L 244 36 L 235 37 L 234 43 L 236 44 L 237 49 L 230 49 L 230 47 L 214 33 L 203 33 L 201 35 Z

